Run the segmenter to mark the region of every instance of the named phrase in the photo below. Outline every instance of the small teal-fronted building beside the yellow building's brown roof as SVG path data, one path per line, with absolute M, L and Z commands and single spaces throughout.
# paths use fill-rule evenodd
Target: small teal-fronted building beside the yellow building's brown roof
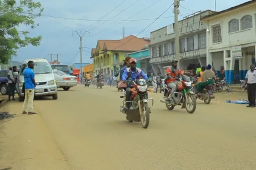
M 140 50 L 138 52 L 128 53 L 128 56 L 136 58 L 137 67 L 143 70 L 143 72 L 151 72 L 152 66 L 149 64 L 149 49 Z

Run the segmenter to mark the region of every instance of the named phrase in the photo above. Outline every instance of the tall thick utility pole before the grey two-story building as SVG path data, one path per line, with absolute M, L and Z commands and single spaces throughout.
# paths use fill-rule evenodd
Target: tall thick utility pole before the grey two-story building
M 179 6 L 180 0 L 174 0 L 174 32 L 175 32 L 175 56 L 178 61 L 177 67 L 180 67 L 180 35 L 179 35 Z

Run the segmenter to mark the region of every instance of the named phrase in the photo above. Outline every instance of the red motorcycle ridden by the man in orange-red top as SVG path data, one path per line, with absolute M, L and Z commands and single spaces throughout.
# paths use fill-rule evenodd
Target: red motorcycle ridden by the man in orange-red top
M 177 92 L 171 95 L 171 89 L 166 85 L 164 86 L 163 98 L 161 103 L 165 103 L 168 110 L 173 110 L 175 106 L 181 105 L 182 109 L 186 109 L 188 113 L 193 114 L 196 110 L 196 96 L 191 91 L 191 80 L 186 75 L 176 78 Z M 191 109 L 190 109 L 191 106 Z

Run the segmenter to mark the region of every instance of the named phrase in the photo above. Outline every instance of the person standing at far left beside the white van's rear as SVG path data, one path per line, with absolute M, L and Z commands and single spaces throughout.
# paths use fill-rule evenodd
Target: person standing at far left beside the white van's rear
M 14 71 L 16 72 L 17 67 L 14 66 L 14 68 L 15 68 Z M 15 100 L 14 94 L 15 94 L 16 81 L 15 81 L 15 76 L 13 74 L 12 67 L 9 68 L 7 78 L 8 78 L 8 95 L 9 95 L 8 101 L 11 101 L 11 97 L 12 97 L 12 100 L 14 101 Z

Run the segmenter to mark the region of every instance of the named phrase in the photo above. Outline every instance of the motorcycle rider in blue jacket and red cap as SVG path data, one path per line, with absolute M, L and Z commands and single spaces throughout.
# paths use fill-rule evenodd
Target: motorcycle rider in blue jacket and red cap
M 141 77 L 144 78 L 145 80 L 148 80 L 149 78 L 146 76 L 146 74 L 143 72 L 143 70 L 137 68 L 137 60 L 135 58 L 130 58 L 129 60 L 130 67 L 124 70 L 124 73 L 122 75 L 122 80 L 132 80 L 136 81 L 140 79 Z M 130 77 L 128 77 L 128 73 L 130 73 Z M 126 88 L 126 101 L 130 101 L 130 96 L 132 95 L 131 89 L 129 87 L 129 84 L 127 84 Z M 129 109 L 130 108 L 130 103 L 126 104 L 126 107 Z

